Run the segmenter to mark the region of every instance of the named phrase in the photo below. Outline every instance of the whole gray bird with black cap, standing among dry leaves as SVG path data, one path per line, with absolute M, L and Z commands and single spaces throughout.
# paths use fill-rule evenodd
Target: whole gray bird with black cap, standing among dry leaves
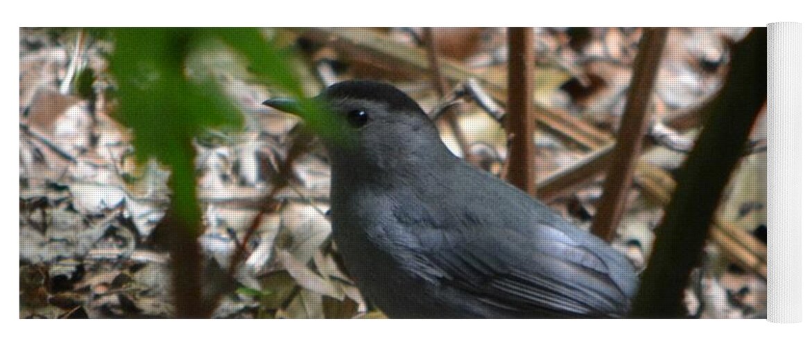
M 456 157 L 417 102 L 348 81 L 317 99 L 332 132 L 333 237 L 391 318 L 621 318 L 637 276 L 606 242 Z M 301 113 L 291 100 L 264 105 Z M 322 126 L 325 132 L 325 126 Z

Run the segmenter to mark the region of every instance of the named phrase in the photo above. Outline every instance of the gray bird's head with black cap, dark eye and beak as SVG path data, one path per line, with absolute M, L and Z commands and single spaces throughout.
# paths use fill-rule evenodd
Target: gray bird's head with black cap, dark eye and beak
M 270 99 L 262 104 L 303 116 L 305 125 L 324 140 L 331 156 L 378 160 L 379 156 L 396 156 L 392 152 L 395 148 L 414 152 L 440 143 L 436 128 L 420 105 L 387 83 L 335 83 L 315 100 L 327 110 L 313 116 L 290 99 Z M 332 117 L 326 117 L 328 113 Z

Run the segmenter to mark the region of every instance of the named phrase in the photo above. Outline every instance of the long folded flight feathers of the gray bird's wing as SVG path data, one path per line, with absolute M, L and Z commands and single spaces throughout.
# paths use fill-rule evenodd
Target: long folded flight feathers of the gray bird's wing
M 510 229 L 471 232 L 453 243 L 424 239 L 434 246 L 444 244 L 425 259 L 446 284 L 498 309 L 550 317 L 617 318 L 628 313 L 637 279 L 628 263 L 616 264 L 622 255 L 596 246 L 599 240 L 581 230 L 576 232 L 585 234 L 544 224 L 536 228 L 531 239 Z M 613 270 L 627 272 L 619 276 Z

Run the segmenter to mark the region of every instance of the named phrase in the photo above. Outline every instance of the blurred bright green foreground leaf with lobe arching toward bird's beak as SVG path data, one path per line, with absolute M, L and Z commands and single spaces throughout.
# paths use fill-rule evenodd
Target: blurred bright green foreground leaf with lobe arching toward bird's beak
M 300 85 L 286 57 L 256 28 L 116 28 L 110 73 L 117 81 L 119 122 L 132 129 L 136 157 L 156 157 L 171 168 L 172 205 L 188 224 L 197 224 L 192 139 L 211 127 L 242 127 L 235 105 L 210 76 L 194 75 L 188 58 L 197 48 L 222 40 L 247 61 L 265 83 L 301 99 Z M 204 52 L 205 53 L 205 52 Z M 91 76 L 92 77 L 92 76 Z M 197 229 L 197 227 L 192 227 Z

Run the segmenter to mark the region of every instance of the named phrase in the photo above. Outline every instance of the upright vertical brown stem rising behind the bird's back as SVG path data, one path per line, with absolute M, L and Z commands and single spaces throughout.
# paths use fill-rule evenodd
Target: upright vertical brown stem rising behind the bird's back
M 534 194 L 536 190 L 533 134 L 535 59 L 533 28 L 508 28 L 508 124 L 512 136 L 508 154 L 508 182 Z

